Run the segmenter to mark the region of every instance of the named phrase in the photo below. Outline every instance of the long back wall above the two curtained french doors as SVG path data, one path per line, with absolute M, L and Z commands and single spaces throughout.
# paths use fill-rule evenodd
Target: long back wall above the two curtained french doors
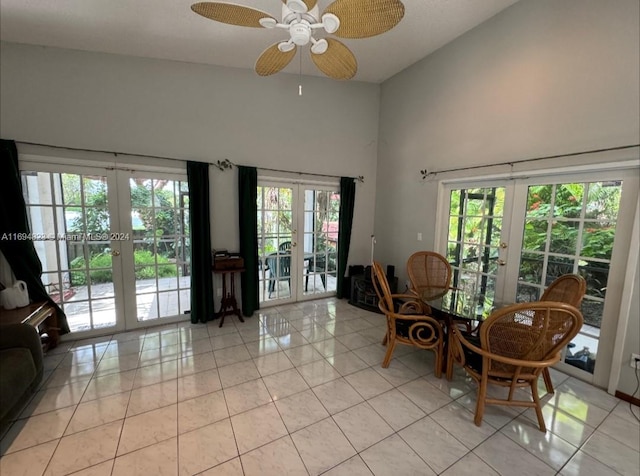
M 373 230 L 379 86 L 315 77 L 303 77 L 302 85 L 299 97 L 297 75 L 261 78 L 248 70 L 3 43 L 0 135 L 363 175 L 350 255 L 361 263 Z M 211 179 L 213 246 L 237 249 L 237 172 L 212 169 Z

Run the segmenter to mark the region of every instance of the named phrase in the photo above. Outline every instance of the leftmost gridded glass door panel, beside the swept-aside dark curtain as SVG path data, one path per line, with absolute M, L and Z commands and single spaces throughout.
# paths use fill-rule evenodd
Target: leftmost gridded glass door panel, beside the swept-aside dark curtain
M 42 281 L 72 332 L 115 328 L 109 213 L 113 174 L 23 171 L 22 186 Z

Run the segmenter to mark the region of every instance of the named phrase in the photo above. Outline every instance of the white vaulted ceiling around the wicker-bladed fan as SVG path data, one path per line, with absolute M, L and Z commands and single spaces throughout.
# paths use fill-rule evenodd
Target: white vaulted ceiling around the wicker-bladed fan
M 354 80 L 382 82 L 517 0 L 402 0 L 405 16 L 372 38 L 343 41 L 355 54 Z M 253 69 L 282 30 L 246 28 L 191 11 L 194 0 L 2 0 L 0 39 L 148 58 Z M 231 2 L 230 2 L 231 3 Z M 280 18 L 280 0 L 234 0 Z M 323 11 L 331 0 L 319 0 Z M 284 72 L 322 76 L 308 46 Z

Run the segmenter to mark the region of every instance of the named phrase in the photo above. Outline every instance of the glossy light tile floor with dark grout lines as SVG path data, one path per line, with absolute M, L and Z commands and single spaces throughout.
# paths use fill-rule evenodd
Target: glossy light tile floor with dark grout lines
M 0 474 L 639 474 L 627 403 L 552 372 L 546 434 L 504 407 L 477 427 L 473 381 L 402 346 L 382 369 L 383 333 L 381 315 L 326 299 L 64 342 L 4 429 Z

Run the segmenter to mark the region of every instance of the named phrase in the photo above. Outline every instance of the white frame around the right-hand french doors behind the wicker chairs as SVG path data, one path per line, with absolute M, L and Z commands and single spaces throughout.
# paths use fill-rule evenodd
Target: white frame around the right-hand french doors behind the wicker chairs
M 589 178 L 585 178 L 589 177 Z M 622 291 L 625 288 L 624 277 L 627 274 L 627 270 L 635 266 L 635 263 L 631 263 L 628 250 L 633 240 L 633 226 L 635 223 L 634 213 L 636 202 L 638 200 L 637 195 L 633 195 L 635 190 L 637 193 L 640 187 L 640 177 L 637 160 L 621 160 L 616 162 L 595 164 L 595 165 L 583 165 L 576 167 L 561 167 L 561 168 L 544 168 L 535 171 L 522 171 L 512 172 L 509 174 L 495 174 L 495 175 L 482 175 L 474 180 L 469 180 L 468 177 L 452 177 L 445 178 L 438 181 L 438 198 L 437 198 L 437 212 L 436 212 L 436 226 L 435 226 L 435 240 L 434 249 L 439 252 L 446 252 L 447 249 L 447 233 L 448 233 L 448 218 L 449 218 L 449 196 L 448 190 L 451 187 L 464 187 L 470 183 L 473 184 L 473 188 L 487 186 L 487 184 L 495 184 L 499 181 L 510 180 L 513 182 L 514 199 L 512 200 L 512 213 L 515 210 L 524 210 L 526 204 L 526 193 L 518 193 L 521 187 L 528 188 L 529 185 L 534 183 L 563 183 L 573 181 L 585 181 L 585 182 L 597 182 L 602 180 L 608 180 L 610 178 L 617 178 L 623 181 L 622 196 L 620 199 L 620 208 L 618 210 L 618 219 L 616 222 L 616 238 L 614 242 L 614 248 L 611 255 L 611 267 L 609 273 L 609 282 L 607 297 L 605 299 L 603 313 L 602 313 L 602 325 L 600 328 L 600 336 L 598 339 L 598 359 L 594 373 L 590 374 L 586 371 L 580 370 L 576 367 L 568 364 L 560 363 L 558 368 L 563 372 L 576 376 L 580 379 L 587 380 L 599 387 L 607 388 L 610 385 L 610 375 L 616 372 L 617 365 L 620 356 L 619 352 L 616 352 L 616 358 L 614 359 L 614 351 L 618 346 L 624 345 L 624 342 L 617 342 L 616 334 L 618 332 L 619 320 L 628 320 L 628 316 L 623 316 L 621 313 L 625 312 L 625 308 L 622 302 Z M 516 191 L 518 189 L 518 191 Z M 505 194 L 505 200 L 506 200 Z M 524 201 L 523 201 L 524 200 Z M 506 207 L 506 204 L 505 204 Z M 505 211 L 506 215 L 506 211 Z M 524 218 L 524 217 L 523 217 Z M 509 253 L 507 262 L 507 277 L 506 282 L 512 283 L 512 294 L 507 296 L 514 296 L 516 286 L 514 283 L 517 281 L 517 267 L 509 267 L 509 263 L 513 263 L 517 260 L 519 263 L 520 247 L 522 243 L 523 229 L 520 225 L 520 220 L 510 220 L 511 226 L 509 229 Z M 517 246 L 514 244 L 518 243 Z M 515 274 L 513 274 L 515 273 Z M 515 275 L 516 280 L 512 277 Z M 507 288 L 504 288 L 505 290 Z M 624 361 L 624 358 L 622 359 Z M 615 367 L 615 368 L 614 368 Z

